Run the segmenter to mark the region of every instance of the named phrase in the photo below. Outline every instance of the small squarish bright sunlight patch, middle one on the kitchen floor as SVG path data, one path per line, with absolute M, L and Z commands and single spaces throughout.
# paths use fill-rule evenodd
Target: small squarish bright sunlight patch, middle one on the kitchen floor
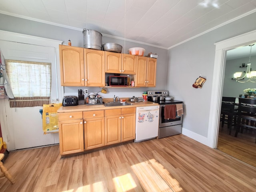
M 137 186 L 130 173 L 113 178 L 113 182 L 116 191 L 129 191 Z

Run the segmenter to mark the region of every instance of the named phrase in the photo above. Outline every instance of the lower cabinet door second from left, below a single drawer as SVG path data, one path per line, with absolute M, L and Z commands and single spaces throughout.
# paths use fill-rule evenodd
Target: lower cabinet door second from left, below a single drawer
M 105 145 L 104 117 L 84 119 L 84 149 Z

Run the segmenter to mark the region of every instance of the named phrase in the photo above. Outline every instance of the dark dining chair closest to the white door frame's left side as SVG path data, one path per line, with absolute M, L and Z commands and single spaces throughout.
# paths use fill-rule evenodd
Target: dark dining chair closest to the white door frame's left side
M 220 121 L 221 127 L 228 124 L 229 134 L 231 134 L 231 127 L 236 126 L 237 111 L 235 110 L 235 97 L 222 97 Z

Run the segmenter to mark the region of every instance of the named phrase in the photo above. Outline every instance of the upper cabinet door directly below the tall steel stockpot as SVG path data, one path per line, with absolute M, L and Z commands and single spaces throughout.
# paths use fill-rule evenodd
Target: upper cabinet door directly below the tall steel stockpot
M 85 86 L 105 86 L 105 51 L 84 49 Z

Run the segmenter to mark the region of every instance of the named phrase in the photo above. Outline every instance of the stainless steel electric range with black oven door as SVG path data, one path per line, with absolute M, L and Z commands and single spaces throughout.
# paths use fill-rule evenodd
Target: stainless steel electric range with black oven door
M 166 105 L 183 104 L 182 101 L 176 100 L 154 100 L 154 96 L 168 96 L 168 91 L 148 91 L 148 101 L 156 102 L 160 104 L 160 116 L 159 116 L 159 131 L 158 138 L 164 138 L 172 135 L 181 134 L 182 129 L 182 116 L 176 117 L 176 119 L 164 118 L 164 107 Z

